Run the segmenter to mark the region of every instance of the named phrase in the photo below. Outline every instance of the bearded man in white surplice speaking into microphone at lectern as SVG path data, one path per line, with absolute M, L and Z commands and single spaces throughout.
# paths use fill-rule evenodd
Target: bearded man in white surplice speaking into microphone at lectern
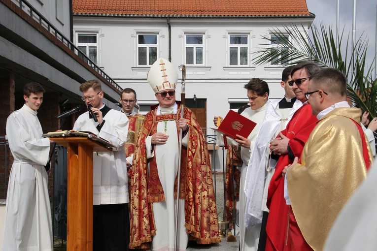
M 128 118 L 107 107 L 98 80 L 89 80 L 80 86 L 82 100 L 93 105 L 95 122 L 89 111 L 80 115 L 73 130 L 90 131 L 109 141 L 113 152 L 93 153 L 93 250 L 128 250 L 130 219 L 128 214 L 128 178 L 124 144 L 127 141 Z

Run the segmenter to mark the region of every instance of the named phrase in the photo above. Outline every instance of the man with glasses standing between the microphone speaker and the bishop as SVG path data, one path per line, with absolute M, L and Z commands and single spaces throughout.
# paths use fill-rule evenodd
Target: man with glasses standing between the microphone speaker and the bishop
M 126 150 L 127 157 L 128 195 L 131 196 L 132 160 L 134 158 L 137 136 L 143 124 L 144 116 L 134 111 L 134 106 L 137 103 L 136 92 L 134 89 L 123 89 L 122 93 L 120 94 L 119 102 L 122 104 L 122 109 L 120 111 L 127 116 L 129 121 L 127 142 L 124 144 L 124 148 Z

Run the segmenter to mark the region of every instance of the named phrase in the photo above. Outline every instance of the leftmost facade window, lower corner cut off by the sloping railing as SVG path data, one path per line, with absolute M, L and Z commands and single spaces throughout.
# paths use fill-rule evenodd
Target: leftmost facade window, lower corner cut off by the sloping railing
M 91 61 L 98 62 L 98 39 L 97 34 L 77 34 L 77 47 Z M 85 57 L 79 54 L 79 57 L 86 62 Z

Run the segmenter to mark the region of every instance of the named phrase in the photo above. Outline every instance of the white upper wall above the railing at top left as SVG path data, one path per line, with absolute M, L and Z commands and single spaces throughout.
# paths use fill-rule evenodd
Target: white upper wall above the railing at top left
M 12 0 L 19 6 L 18 0 Z M 28 0 L 28 2 L 56 29 L 70 39 L 69 0 Z M 23 9 L 30 14 L 29 7 Z

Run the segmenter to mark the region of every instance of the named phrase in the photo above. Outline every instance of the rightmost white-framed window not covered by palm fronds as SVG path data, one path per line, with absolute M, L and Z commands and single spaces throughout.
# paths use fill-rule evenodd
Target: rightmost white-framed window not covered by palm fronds
M 249 35 L 229 35 L 229 65 L 249 65 Z

